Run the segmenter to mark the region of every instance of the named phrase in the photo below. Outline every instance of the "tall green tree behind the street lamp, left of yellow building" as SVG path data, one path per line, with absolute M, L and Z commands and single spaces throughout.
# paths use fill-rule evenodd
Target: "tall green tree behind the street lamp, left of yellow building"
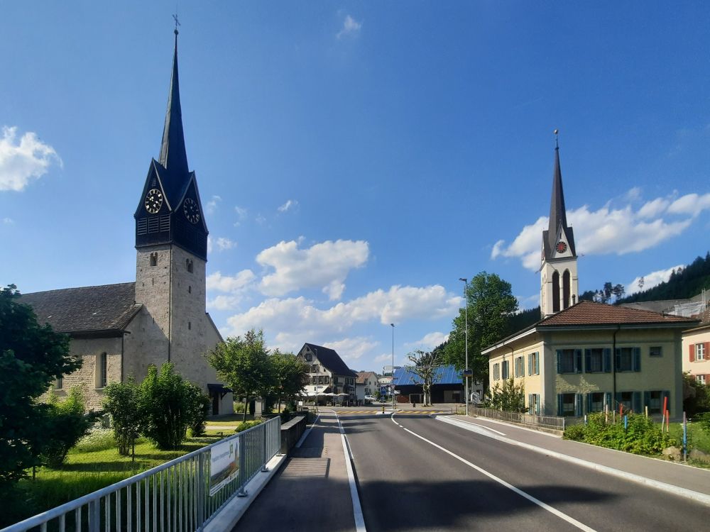
M 510 331 L 510 316 L 518 310 L 518 300 L 513 296 L 509 282 L 494 273 L 481 272 L 471 279 L 466 297 L 469 302 L 469 367 L 474 382 L 488 381 L 488 357 L 481 350 L 506 337 Z M 446 362 L 457 369 L 465 365 L 465 309 L 459 309 L 454 318 L 444 352 Z

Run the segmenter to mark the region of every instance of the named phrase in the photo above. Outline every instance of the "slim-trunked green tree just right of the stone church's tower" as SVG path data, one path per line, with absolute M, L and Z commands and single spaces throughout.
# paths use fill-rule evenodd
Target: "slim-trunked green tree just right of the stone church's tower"
M 245 404 L 256 394 L 273 386 L 273 365 L 263 331 L 247 331 L 244 338 L 227 338 L 207 353 L 209 364 Z M 244 409 L 246 421 L 246 409 Z

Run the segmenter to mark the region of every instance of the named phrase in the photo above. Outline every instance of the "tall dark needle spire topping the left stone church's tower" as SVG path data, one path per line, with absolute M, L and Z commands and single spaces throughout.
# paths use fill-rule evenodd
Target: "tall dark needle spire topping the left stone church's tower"
M 185 134 L 182 132 L 182 111 L 180 109 L 180 82 L 178 80 L 178 28 L 175 28 L 175 54 L 173 55 L 173 77 L 170 79 L 168 111 L 165 113 L 163 144 L 160 145 L 161 165 L 170 174 L 187 174 L 187 152 Z

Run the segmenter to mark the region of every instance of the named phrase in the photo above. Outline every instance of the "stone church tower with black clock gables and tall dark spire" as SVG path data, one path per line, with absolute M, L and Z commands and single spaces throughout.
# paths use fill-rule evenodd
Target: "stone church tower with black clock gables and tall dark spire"
M 178 80 L 178 30 L 173 76 L 160 157 L 151 160 L 136 218 L 136 303 L 143 304 L 160 331 L 146 345 L 162 361 L 175 362 L 186 377 L 199 370 L 205 334 L 214 329 L 205 313 L 207 225 L 195 172 L 187 166 Z M 208 331 L 209 329 L 209 331 Z M 162 346 L 162 347 L 160 347 Z M 159 353 L 156 353 L 158 351 Z M 206 378 L 206 377 L 205 377 Z

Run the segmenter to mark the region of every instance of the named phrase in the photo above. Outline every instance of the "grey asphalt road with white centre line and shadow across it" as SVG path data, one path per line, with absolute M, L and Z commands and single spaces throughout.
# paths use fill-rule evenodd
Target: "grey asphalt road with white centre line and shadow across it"
M 369 532 L 710 530 L 707 506 L 428 416 L 339 414 Z

